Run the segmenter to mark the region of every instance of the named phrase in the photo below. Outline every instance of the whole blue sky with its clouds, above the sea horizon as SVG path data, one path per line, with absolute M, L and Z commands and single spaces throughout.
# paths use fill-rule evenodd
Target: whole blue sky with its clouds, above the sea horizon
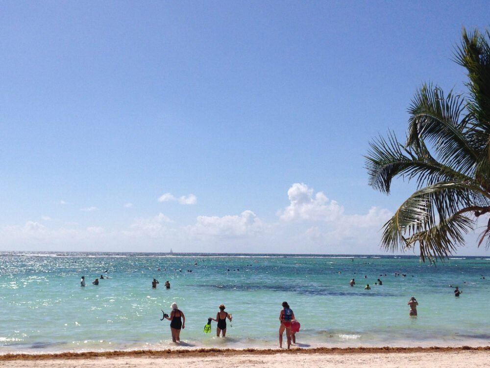
M 2 1 L 0 250 L 382 253 L 368 186 L 488 1 Z M 410 253 L 411 254 L 411 253 Z M 417 253 L 416 253 L 417 254 Z M 485 255 L 474 237 L 460 255 Z

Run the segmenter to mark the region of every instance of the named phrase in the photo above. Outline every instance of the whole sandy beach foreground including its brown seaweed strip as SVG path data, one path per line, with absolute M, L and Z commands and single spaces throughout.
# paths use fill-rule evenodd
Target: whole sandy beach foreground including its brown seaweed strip
M 284 350 L 163 350 L 104 353 L 8 354 L 2 368 L 204 367 L 488 367 L 490 346 L 459 348 L 320 348 Z

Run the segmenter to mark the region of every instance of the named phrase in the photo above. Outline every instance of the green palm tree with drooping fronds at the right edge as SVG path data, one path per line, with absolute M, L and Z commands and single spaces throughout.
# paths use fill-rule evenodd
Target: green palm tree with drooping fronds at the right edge
M 369 185 L 390 194 L 392 179 L 417 189 L 383 226 L 381 246 L 415 250 L 431 263 L 464 245 L 490 213 L 490 33 L 463 28 L 454 61 L 468 72 L 466 95 L 424 84 L 409 108 L 405 144 L 393 132 L 369 143 Z M 482 217 L 483 218 L 483 217 Z M 485 218 L 486 219 L 486 218 Z M 478 239 L 490 246 L 490 220 Z

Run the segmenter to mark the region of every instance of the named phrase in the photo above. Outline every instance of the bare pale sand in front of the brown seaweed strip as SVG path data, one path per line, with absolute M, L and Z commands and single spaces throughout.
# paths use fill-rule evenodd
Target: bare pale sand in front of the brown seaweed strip
M 1 359 L 1 358 L 0 358 Z M 2 368 L 487 368 L 490 350 L 345 353 L 201 353 L 0 360 Z

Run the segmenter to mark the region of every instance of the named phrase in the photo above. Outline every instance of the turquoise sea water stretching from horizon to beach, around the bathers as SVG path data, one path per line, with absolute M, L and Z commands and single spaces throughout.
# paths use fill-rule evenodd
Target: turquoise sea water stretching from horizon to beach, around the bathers
M 182 346 L 275 348 L 284 300 L 301 347 L 490 344 L 490 258 L 0 253 L 0 353 L 175 347 L 160 321 L 172 302 L 186 315 Z M 202 332 L 221 303 L 233 315 L 226 339 L 216 322 Z

